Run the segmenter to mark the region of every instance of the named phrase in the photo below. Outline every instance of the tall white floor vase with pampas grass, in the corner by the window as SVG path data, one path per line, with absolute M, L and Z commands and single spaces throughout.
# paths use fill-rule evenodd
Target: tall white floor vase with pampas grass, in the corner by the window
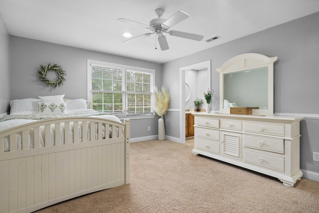
M 158 132 L 158 139 L 165 140 L 165 126 L 164 126 L 164 119 L 163 116 L 168 110 L 169 104 L 169 92 L 163 86 L 161 90 L 157 87 L 154 87 L 154 106 L 153 109 L 155 113 L 160 116 L 159 118 L 159 132 Z

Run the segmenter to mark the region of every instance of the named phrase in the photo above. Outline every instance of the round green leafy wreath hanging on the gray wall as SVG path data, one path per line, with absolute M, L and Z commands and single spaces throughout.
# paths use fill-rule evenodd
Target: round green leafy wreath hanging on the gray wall
M 53 82 L 46 78 L 46 74 L 50 70 L 58 73 L 59 79 L 57 81 Z M 38 79 L 42 81 L 46 86 L 51 86 L 54 89 L 57 86 L 63 85 L 63 82 L 65 81 L 64 75 L 66 75 L 65 71 L 63 71 L 62 67 L 57 64 L 52 65 L 51 63 L 49 63 L 48 65 L 45 64 L 44 66 L 40 65 L 40 68 L 38 70 Z

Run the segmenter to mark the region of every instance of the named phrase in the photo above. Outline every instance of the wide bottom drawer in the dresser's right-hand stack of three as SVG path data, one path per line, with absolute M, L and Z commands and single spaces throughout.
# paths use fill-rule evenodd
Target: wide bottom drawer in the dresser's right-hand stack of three
M 244 150 L 244 161 L 281 172 L 285 170 L 284 157 Z

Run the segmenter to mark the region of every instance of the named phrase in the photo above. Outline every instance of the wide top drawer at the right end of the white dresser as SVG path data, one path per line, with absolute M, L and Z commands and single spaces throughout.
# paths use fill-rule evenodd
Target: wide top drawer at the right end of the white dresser
M 259 123 L 259 122 L 244 122 L 245 132 L 255 132 L 269 135 L 285 135 L 284 124 L 270 124 L 270 123 Z

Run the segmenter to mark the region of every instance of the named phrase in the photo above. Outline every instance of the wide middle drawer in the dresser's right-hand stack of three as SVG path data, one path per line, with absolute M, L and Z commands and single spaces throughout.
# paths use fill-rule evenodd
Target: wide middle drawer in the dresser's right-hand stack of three
M 277 153 L 285 153 L 284 148 L 284 140 L 283 139 L 273 139 L 273 138 L 266 138 L 266 137 L 257 137 L 251 135 L 244 135 L 244 146 L 270 151 L 270 152 L 277 152 Z

